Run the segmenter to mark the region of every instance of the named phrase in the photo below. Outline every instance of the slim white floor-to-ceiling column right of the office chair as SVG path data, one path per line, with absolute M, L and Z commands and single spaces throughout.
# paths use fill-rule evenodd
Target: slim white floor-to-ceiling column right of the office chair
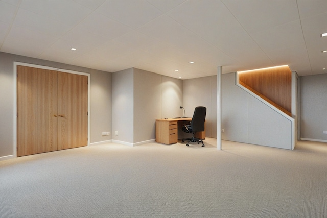
M 221 150 L 221 66 L 217 68 L 217 150 Z

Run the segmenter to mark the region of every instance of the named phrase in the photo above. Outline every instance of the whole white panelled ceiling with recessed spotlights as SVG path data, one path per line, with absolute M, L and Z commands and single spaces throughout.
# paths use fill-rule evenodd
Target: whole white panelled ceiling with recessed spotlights
M 109 72 L 323 74 L 325 32 L 326 0 L 0 0 L 1 52 Z

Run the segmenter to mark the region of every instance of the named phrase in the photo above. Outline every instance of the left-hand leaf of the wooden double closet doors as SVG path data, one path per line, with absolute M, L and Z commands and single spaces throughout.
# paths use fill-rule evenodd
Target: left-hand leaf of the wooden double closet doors
M 57 150 L 57 71 L 17 66 L 17 156 Z

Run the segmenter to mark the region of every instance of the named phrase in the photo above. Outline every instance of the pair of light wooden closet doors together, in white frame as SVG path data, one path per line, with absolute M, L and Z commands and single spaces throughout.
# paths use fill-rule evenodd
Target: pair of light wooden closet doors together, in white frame
M 87 76 L 17 66 L 17 156 L 87 146 Z

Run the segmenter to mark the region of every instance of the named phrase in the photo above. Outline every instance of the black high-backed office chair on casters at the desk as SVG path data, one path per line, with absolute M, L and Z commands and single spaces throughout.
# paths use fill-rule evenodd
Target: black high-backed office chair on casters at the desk
M 202 107 L 202 106 L 196 107 L 190 124 L 183 125 L 182 130 L 184 132 L 192 133 L 192 138 L 182 139 L 182 142 L 184 142 L 185 140 L 189 140 L 188 143 L 186 143 L 186 146 L 189 146 L 190 142 L 198 142 L 198 144 L 201 142 L 202 147 L 204 147 L 203 140 L 194 137 L 194 135 L 196 132 L 204 131 L 205 115 L 206 115 L 206 107 Z

